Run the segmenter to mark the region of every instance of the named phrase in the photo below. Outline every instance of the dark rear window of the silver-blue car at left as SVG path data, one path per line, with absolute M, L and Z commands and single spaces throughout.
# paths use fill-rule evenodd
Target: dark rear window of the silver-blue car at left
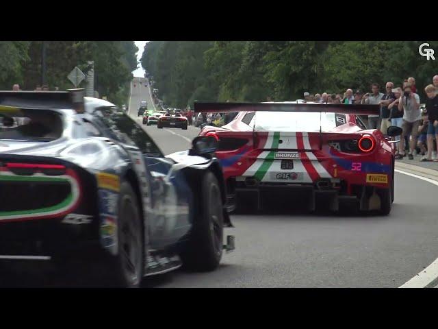
M 49 142 L 63 130 L 61 114 L 55 111 L 0 108 L 0 140 Z

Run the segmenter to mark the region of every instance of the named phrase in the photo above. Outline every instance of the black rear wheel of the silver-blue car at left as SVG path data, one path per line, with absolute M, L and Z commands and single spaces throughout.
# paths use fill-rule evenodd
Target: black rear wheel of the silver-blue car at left
M 144 243 L 143 226 L 138 198 L 131 184 L 120 184 L 118 199 L 118 254 L 110 261 L 117 287 L 137 288 L 143 278 Z M 114 270 L 114 271 L 113 271 Z

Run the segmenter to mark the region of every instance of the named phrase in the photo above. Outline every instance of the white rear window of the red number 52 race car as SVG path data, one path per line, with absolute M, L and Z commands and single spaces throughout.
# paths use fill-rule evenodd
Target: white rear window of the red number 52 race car
M 255 130 L 266 132 L 328 132 L 336 127 L 335 113 L 257 112 Z

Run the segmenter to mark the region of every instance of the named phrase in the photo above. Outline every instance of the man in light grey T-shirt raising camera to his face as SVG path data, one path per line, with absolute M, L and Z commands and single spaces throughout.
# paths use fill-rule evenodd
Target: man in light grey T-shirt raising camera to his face
M 411 135 L 408 158 L 409 160 L 413 160 L 413 151 L 415 145 L 417 145 L 418 126 L 420 125 L 422 115 L 420 111 L 420 96 L 412 92 L 409 83 L 404 85 L 404 94 L 398 101 L 398 110 L 403 111 L 403 132 L 402 138 L 400 138 L 398 156 L 396 156 L 396 159 L 401 159 L 406 156 L 404 152 L 404 137 Z

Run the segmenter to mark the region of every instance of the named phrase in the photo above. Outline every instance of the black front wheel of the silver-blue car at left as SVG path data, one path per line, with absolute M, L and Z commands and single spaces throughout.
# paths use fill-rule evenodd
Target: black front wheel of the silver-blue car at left
M 213 271 L 222 258 L 224 218 L 218 180 L 210 171 L 203 177 L 198 200 L 190 240 L 180 256 L 185 269 Z

